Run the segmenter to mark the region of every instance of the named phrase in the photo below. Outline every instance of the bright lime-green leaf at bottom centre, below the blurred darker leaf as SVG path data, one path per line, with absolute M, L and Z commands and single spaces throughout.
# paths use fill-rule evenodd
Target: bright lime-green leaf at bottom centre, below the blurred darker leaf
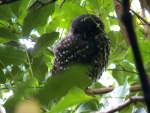
M 55 107 L 50 110 L 49 113 L 62 112 L 64 109 L 92 99 L 93 98 L 91 96 L 87 96 L 83 90 L 74 87 L 61 101 L 58 102 Z

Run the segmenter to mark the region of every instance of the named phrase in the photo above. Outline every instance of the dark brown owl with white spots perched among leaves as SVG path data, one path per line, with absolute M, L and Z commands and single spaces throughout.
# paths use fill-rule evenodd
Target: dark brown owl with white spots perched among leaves
M 110 54 L 110 40 L 104 32 L 104 24 L 93 14 L 76 17 L 70 31 L 53 48 L 52 73 L 66 70 L 73 62 L 89 65 L 89 76 L 95 82 L 105 71 Z

